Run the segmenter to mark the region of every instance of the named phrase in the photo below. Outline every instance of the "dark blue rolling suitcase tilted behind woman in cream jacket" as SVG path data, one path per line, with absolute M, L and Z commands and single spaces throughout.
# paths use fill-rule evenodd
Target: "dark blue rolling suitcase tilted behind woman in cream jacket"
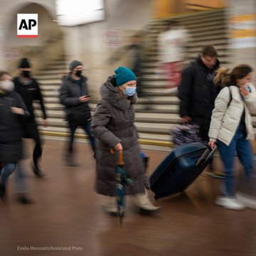
M 149 177 L 155 198 L 171 196 L 185 189 L 210 164 L 216 149 L 201 142 L 183 144 L 173 149 Z

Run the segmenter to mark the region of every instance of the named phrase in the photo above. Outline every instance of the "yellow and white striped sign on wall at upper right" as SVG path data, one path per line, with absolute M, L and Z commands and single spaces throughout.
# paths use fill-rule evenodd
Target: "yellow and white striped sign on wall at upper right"
M 256 47 L 256 14 L 244 14 L 229 18 L 230 47 Z

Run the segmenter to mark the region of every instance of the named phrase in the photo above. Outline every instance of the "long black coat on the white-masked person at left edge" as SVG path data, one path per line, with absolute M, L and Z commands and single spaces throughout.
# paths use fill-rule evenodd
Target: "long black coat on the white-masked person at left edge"
M 22 108 L 25 116 L 14 114 L 11 107 Z M 22 159 L 22 121 L 29 117 L 21 97 L 16 92 L 0 93 L 0 162 L 16 163 Z

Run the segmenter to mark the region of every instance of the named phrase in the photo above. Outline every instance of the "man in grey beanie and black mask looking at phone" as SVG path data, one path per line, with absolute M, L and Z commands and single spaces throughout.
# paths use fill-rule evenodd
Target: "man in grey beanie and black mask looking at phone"
M 65 106 L 66 119 L 70 129 L 70 141 L 65 162 L 68 166 L 78 166 L 74 160 L 73 142 L 75 130 L 80 126 L 88 135 L 95 157 L 95 137 L 91 132 L 90 95 L 87 87 L 87 78 L 82 75 L 82 63 L 73 60 L 70 63 L 70 73 L 65 75 L 60 87 L 60 103 Z

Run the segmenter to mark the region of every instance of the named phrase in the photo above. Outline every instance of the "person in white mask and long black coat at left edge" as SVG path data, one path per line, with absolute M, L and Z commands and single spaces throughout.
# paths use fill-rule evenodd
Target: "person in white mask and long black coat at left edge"
M 22 120 L 29 117 L 21 97 L 14 92 L 9 73 L 0 71 L 0 197 L 6 196 L 6 183 L 23 156 Z

